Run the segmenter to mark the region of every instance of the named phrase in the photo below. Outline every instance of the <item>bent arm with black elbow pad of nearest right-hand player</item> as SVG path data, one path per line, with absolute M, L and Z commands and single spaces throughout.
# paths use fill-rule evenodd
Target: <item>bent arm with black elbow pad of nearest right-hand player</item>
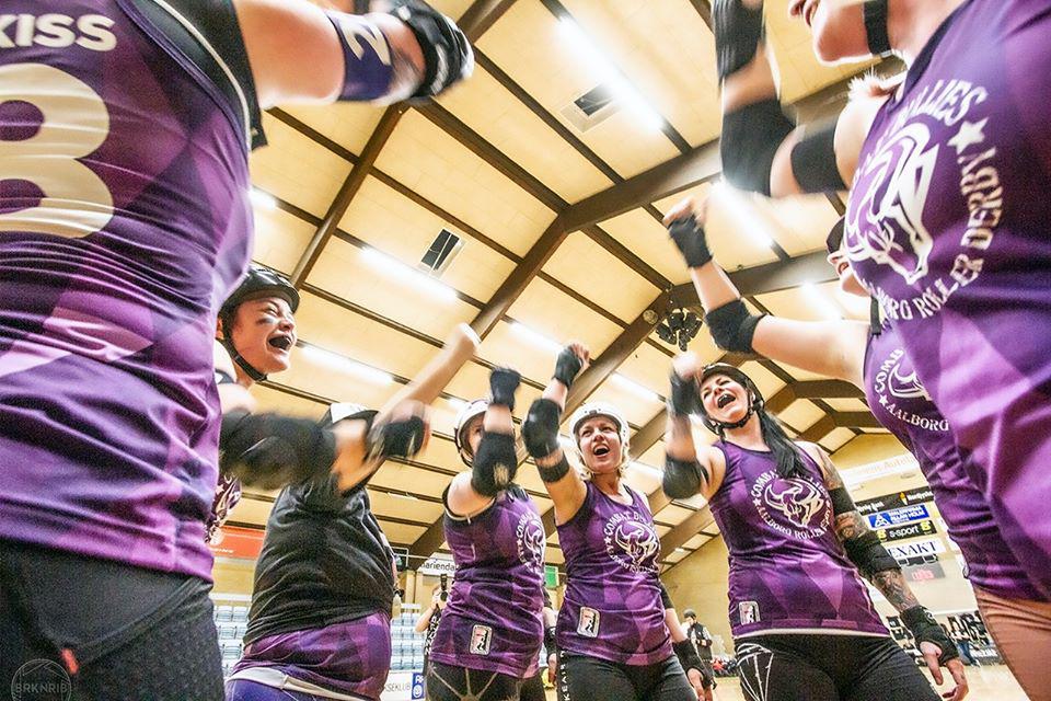
M 715 0 L 712 19 L 726 179 L 774 197 L 846 189 L 883 97 L 852 101 L 835 122 L 797 128 L 777 97 L 762 0 Z

